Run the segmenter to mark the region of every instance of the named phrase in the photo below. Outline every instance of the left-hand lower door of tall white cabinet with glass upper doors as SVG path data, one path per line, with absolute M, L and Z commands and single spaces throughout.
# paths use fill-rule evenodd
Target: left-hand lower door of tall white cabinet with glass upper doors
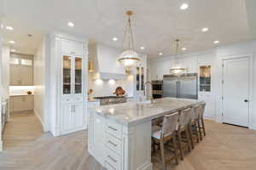
M 61 132 L 65 133 L 73 129 L 73 105 L 63 104 L 61 105 Z

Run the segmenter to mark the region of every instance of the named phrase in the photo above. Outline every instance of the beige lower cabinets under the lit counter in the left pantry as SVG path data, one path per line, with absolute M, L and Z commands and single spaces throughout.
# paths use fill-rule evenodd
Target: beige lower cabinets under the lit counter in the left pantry
M 33 95 L 17 95 L 10 97 L 9 109 L 14 111 L 32 111 L 34 109 Z

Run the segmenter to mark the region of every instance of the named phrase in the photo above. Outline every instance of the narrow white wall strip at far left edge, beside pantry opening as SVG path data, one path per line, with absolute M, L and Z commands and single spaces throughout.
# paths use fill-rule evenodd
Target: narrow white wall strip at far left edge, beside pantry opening
M 3 85 L 3 99 L 9 99 L 9 46 L 3 46 L 2 55 L 2 85 Z

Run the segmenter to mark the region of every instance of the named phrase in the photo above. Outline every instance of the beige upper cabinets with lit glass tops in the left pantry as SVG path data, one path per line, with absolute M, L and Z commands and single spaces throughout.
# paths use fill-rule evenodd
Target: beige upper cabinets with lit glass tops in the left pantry
M 33 85 L 33 58 L 32 55 L 11 54 L 10 56 L 10 79 L 11 86 Z

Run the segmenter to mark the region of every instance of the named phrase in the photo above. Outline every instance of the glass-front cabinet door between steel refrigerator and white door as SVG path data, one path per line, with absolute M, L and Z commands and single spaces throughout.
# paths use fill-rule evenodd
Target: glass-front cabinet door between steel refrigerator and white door
M 201 65 L 199 67 L 200 79 L 199 89 L 201 92 L 211 92 L 211 65 Z

